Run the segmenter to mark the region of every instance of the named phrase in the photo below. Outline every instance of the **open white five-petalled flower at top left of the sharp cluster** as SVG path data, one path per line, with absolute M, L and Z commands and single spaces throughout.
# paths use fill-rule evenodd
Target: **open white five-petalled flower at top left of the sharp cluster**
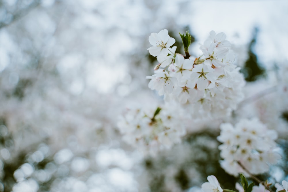
M 159 33 L 151 33 L 149 42 L 153 46 L 147 50 L 152 56 L 156 57 L 160 54 L 166 56 L 168 48 L 175 43 L 175 39 L 168 35 L 167 29 L 164 29 Z

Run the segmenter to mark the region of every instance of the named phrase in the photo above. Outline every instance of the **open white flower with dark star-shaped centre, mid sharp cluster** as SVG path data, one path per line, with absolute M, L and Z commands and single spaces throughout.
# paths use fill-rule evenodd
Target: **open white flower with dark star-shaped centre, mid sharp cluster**
M 208 88 L 209 81 L 211 82 L 209 88 L 215 86 L 216 77 L 213 74 L 215 71 L 212 67 L 205 64 L 198 64 L 192 69 L 191 79 L 197 82 L 197 89 L 204 90 Z

